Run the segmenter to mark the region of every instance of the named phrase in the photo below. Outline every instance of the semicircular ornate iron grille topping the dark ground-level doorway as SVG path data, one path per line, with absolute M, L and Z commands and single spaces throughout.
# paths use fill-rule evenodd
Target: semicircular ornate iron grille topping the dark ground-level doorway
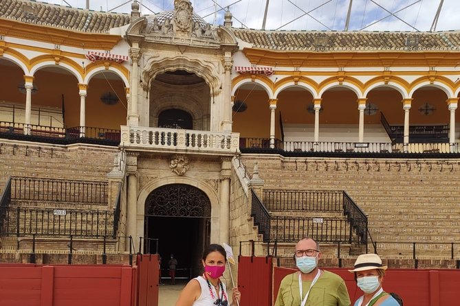
M 196 187 L 173 184 L 152 191 L 145 202 L 145 215 L 155 217 L 210 217 L 211 203 Z

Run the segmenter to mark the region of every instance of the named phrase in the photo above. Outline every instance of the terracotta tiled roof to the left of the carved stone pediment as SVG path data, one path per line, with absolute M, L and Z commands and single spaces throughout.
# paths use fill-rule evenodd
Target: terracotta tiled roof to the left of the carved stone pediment
M 1 0 L 0 19 L 62 27 L 79 32 L 108 32 L 131 22 L 129 14 L 110 14 L 35 1 Z

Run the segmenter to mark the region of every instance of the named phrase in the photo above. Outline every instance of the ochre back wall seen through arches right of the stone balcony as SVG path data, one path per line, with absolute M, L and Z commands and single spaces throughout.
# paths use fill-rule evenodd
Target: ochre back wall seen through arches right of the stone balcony
M 395 90 L 374 89 L 368 95 L 367 102 L 379 108 L 376 115 L 364 115 L 364 123 L 380 124 L 380 111 L 384 113 L 390 124 L 404 124 L 404 110 L 402 96 Z M 237 99 L 245 100 L 248 110 L 244 113 L 233 113 L 233 130 L 241 137 L 270 136 L 270 109 L 268 95 L 262 90 L 237 91 Z M 355 124 L 358 125 L 358 97 L 353 91 L 326 91 L 322 95 L 320 124 Z M 410 110 L 410 125 L 448 124 L 450 115 L 446 104 L 447 96 L 439 89 L 419 89 L 413 95 Z M 278 95 L 276 107 L 276 138 L 281 138 L 279 127 L 279 113 L 283 116 L 283 123 L 314 124 L 314 114 L 308 113 L 307 106 L 313 97 L 308 91 L 283 91 Z M 419 108 L 426 102 L 436 108 L 432 115 L 422 115 Z M 460 121 L 457 112 L 456 121 Z

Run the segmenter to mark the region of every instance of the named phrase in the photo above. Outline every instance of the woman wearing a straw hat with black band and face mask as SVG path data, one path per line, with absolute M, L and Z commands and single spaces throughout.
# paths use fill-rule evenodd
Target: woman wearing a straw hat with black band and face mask
M 386 266 L 377 254 L 363 254 L 355 261 L 355 268 L 349 270 L 355 274 L 355 280 L 364 292 L 354 306 L 399 306 L 390 294 L 382 289 Z

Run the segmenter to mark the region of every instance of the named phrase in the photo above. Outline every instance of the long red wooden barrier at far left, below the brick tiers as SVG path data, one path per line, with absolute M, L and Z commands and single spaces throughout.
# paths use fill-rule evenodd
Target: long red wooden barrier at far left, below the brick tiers
M 135 268 L 120 265 L 2 264 L 0 305 L 134 306 L 135 276 Z

